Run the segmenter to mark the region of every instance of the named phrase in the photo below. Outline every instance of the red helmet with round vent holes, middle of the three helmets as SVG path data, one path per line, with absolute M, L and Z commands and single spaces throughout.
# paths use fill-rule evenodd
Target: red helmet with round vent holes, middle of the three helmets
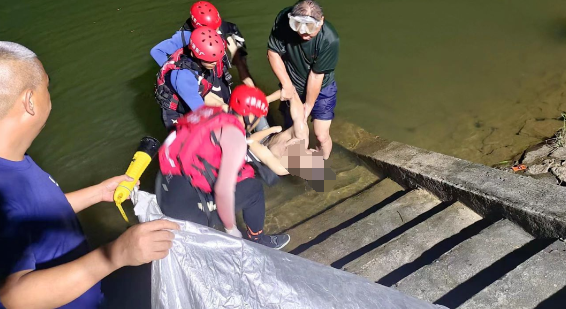
M 220 61 L 226 53 L 224 40 L 209 27 L 200 27 L 191 33 L 189 49 L 196 58 L 208 62 Z

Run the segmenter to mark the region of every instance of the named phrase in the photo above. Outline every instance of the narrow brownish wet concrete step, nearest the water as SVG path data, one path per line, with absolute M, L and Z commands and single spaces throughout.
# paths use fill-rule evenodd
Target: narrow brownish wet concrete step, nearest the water
M 370 214 L 379 209 L 382 204 L 388 204 L 403 194 L 404 190 L 401 186 L 390 179 L 384 179 L 362 193 L 348 198 L 319 214 L 315 214 L 304 222 L 297 223 L 296 227 L 287 231 L 291 235 L 291 242 L 285 249 L 299 254 L 304 249 L 294 250 L 297 246 L 302 245 L 302 248 L 308 248 L 319 242 L 321 238 L 324 238 L 325 231 L 328 232 L 336 226 L 352 220 L 352 218 Z M 296 208 L 298 209 L 295 211 L 304 211 L 298 205 Z

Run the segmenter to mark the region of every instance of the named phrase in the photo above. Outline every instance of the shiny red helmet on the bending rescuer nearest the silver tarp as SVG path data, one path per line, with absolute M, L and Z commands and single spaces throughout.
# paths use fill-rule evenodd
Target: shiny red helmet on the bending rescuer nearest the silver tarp
M 259 88 L 240 85 L 232 91 L 230 108 L 242 116 L 263 117 L 267 115 L 269 104 L 265 94 Z

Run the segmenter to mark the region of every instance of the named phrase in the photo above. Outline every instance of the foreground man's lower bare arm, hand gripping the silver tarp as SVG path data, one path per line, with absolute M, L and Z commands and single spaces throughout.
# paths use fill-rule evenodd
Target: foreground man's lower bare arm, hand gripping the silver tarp
M 6 308 L 61 307 L 126 265 L 137 266 L 167 256 L 176 223 L 157 220 L 129 228 L 116 241 L 72 262 L 43 270 L 23 270 L 0 286 Z

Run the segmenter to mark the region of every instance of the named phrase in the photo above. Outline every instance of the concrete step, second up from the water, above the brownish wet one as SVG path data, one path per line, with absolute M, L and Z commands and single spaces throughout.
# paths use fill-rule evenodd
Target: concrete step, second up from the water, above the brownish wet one
M 371 198 L 372 196 L 369 194 L 360 195 L 359 201 L 373 204 L 364 200 L 372 201 Z M 322 238 L 320 236 L 324 235 L 327 239 L 318 244 L 311 244 L 306 251 L 300 253 L 300 256 L 318 263 L 331 265 L 348 254 L 402 227 L 405 223 L 429 211 L 439 203 L 440 201 L 427 191 L 413 190 L 349 226 L 339 224 L 319 234 L 317 238 Z M 349 200 L 345 201 L 344 204 L 347 208 L 351 206 Z

